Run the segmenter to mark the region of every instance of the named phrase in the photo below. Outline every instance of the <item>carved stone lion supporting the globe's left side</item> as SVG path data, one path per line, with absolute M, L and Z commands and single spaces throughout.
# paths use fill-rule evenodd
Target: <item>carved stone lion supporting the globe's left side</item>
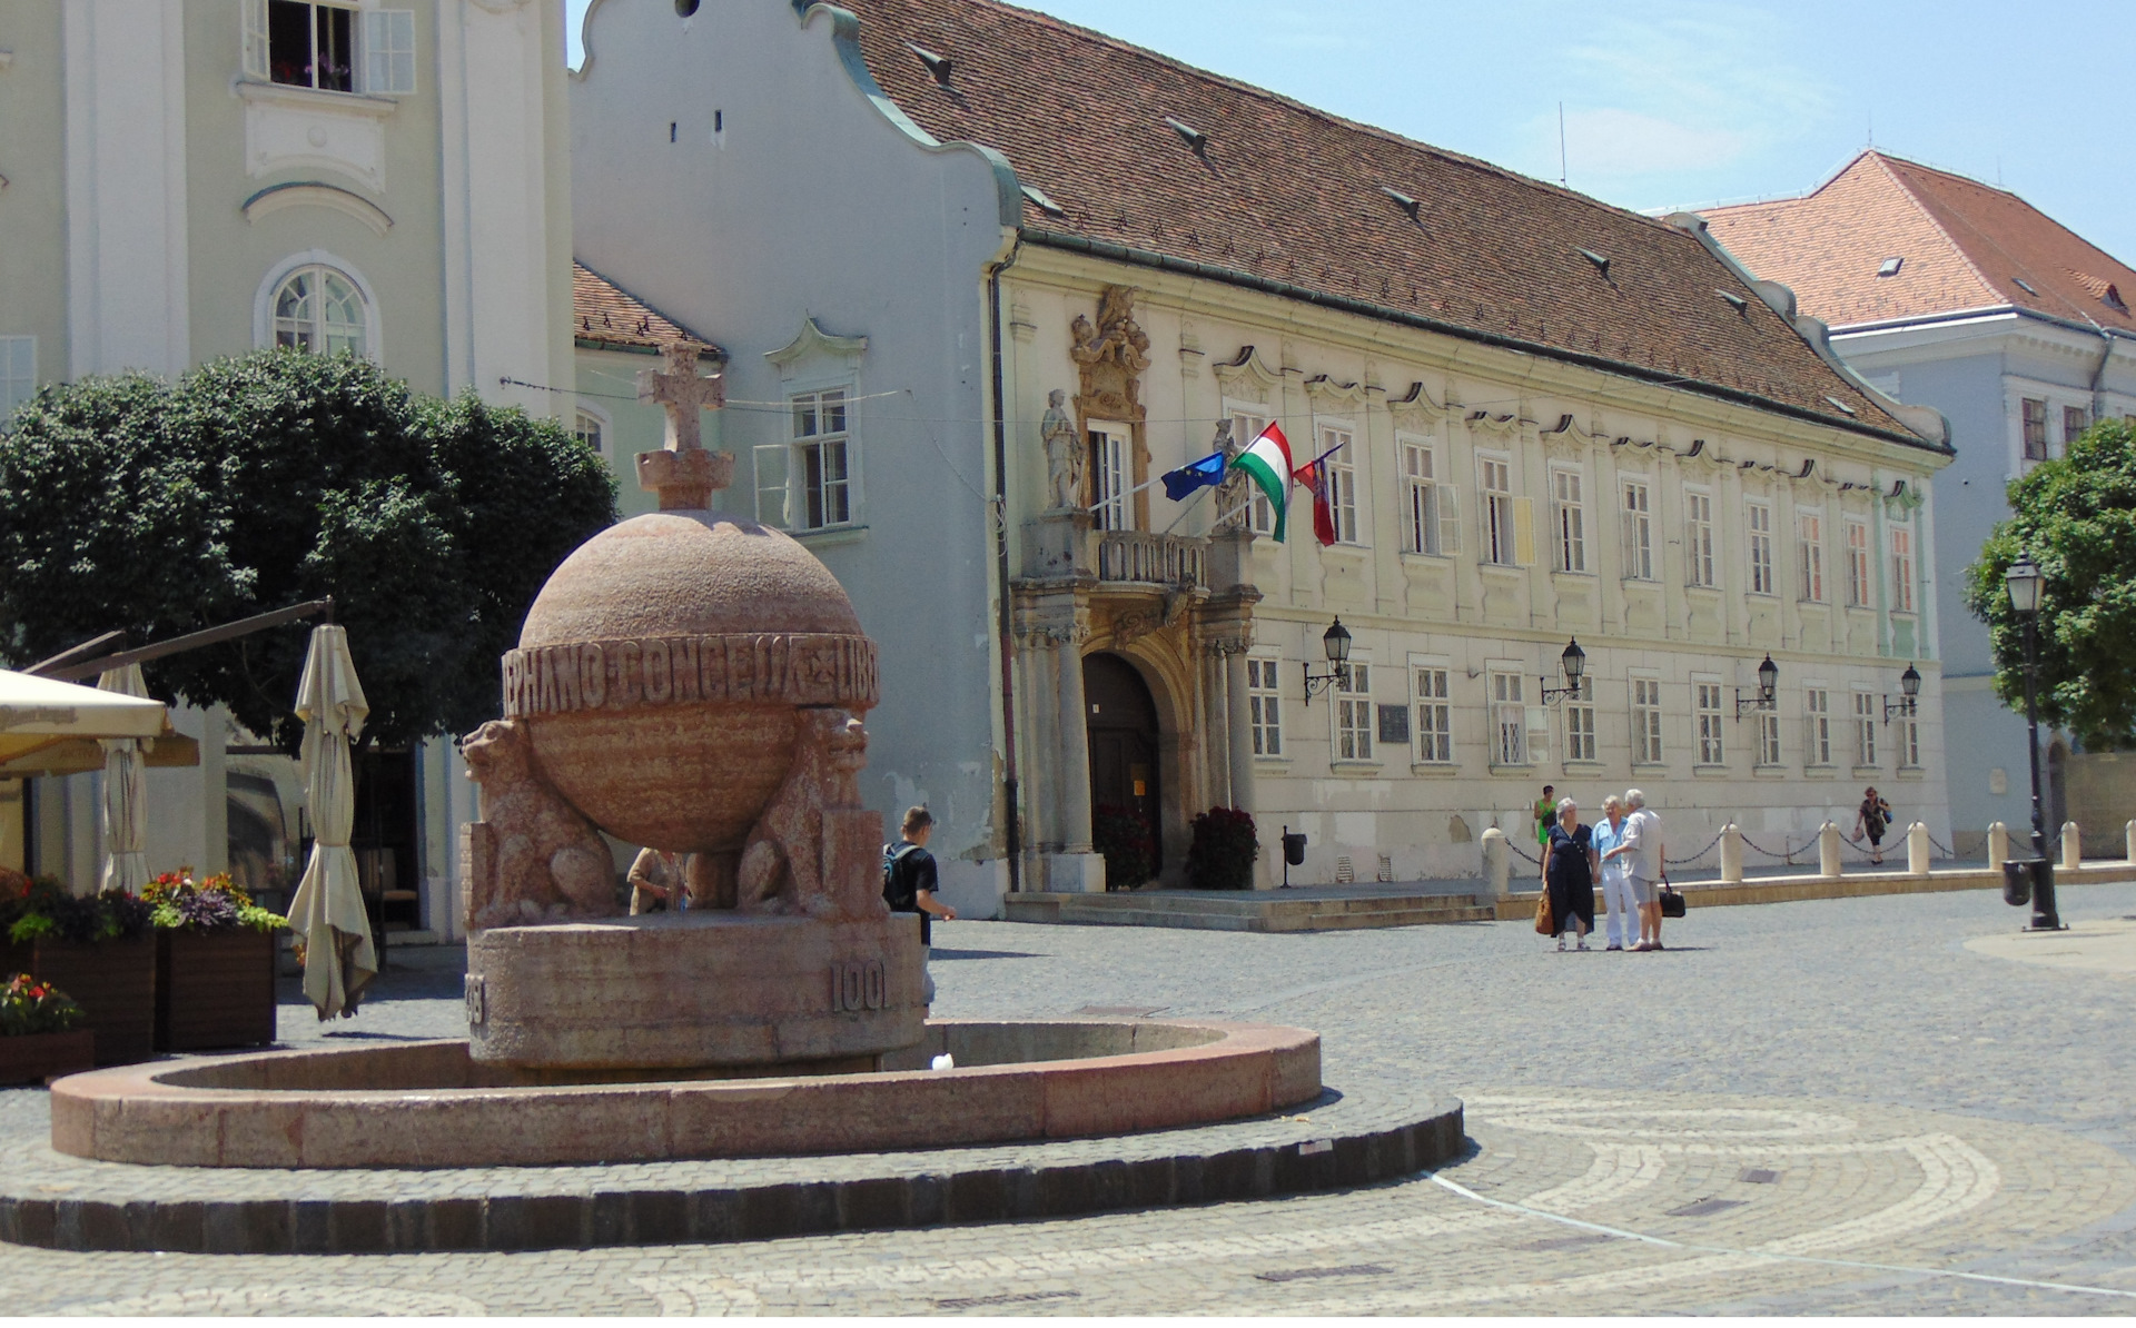
M 461 741 L 483 786 L 483 820 L 468 826 L 468 927 L 513 927 L 615 912 L 609 845 L 534 766 L 517 720 L 491 720 Z

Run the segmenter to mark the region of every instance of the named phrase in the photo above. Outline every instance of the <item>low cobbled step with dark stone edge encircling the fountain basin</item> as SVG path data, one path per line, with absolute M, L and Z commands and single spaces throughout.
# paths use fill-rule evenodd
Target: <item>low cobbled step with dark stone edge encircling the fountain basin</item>
M 1350 1189 L 1442 1166 L 1467 1147 L 1461 1102 L 1427 1091 L 1331 1091 L 1297 1112 L 938 1153 L 231 1172 L 66 1157 L 51 1151 L 47 1112 L 11 1110 L 0 1114 L 0 1240 L 182 1253 L 767 1240 Z

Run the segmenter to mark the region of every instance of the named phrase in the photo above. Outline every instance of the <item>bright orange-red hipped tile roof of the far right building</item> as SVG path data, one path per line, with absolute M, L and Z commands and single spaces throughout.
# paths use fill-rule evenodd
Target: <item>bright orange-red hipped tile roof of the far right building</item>
M 1835 327 L 2019 305 L 2136 333 L 2136 269 L 2016 194 L 1882 152 L 1801 199 L 1705 218 L 1745 267 Z M 1899 271 L 1875 275 L 1888 258 Z

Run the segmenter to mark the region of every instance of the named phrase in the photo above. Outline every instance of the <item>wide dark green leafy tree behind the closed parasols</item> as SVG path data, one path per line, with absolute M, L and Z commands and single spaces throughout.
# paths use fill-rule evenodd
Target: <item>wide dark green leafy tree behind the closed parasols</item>
M 543 581 L 615 521 L 615 483 L 553 421 L 423 397 L 370 361 L 267 350 L 175 384 L 49 386 L 0 436 L 0 658 L 132 643 L 331 594 L 372 702 L 365 739 L 498 713 L 498 655 Z M 308 630 L 145 666 L 295 739 Z

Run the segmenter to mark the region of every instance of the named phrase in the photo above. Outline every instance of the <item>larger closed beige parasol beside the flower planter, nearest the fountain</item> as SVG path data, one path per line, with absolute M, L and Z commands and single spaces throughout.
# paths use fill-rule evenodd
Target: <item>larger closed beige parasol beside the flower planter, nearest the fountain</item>
M 297 683 L 297 717 L 303 720 L 303 790 L 316 837 L 288 905 L 288 924 L 303 937 L 303 995 L 320 1018 L 355 1014 L 363 989 L 378 974 L 357 854 L 348 848 L 357 824 L 348 743 L 363 732 L 370 713 L 348 658 L 348 632 L 333 623 L 312 628 L 312 649 Z

